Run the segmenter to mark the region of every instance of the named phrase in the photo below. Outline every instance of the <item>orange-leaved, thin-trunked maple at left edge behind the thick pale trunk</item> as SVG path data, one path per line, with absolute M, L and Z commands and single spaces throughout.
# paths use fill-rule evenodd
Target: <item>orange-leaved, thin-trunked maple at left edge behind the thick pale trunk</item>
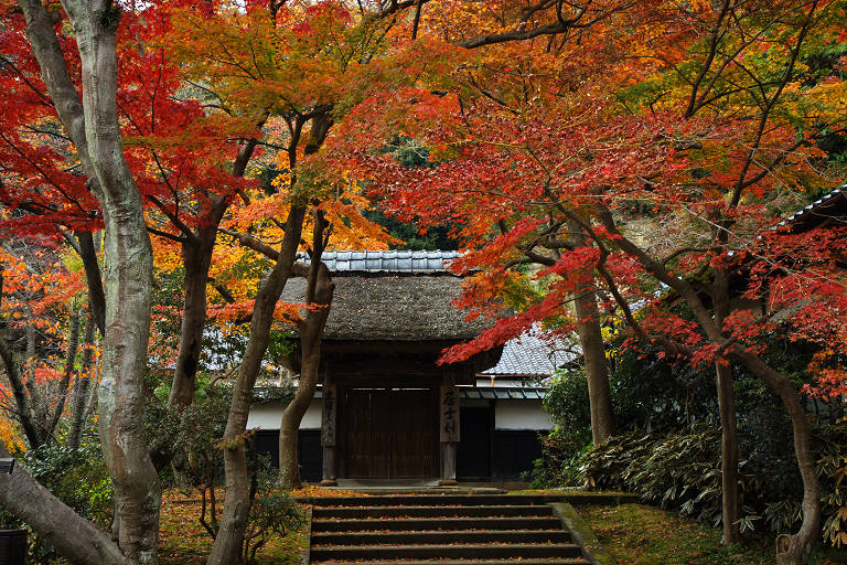
M 63 264 L 60 249 L 45 243 L 8 241 L 0 249 L 0 358 L 9 377 L 2 386 L 3 411 L 14 415 L 3 422 L 3 441 L 13 451 L 54 440 L 72 392 L 67 440 L 78 445 L 90 414 L 88 384 L 96 379 L 94 320 L 84 300 L 84 278 Z M 25 443 L 15 437 L 13 422 Z

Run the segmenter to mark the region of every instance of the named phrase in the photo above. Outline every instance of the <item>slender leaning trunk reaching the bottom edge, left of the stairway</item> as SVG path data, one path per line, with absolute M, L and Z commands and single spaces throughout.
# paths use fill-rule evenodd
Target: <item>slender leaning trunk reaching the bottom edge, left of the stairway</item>
M 270 341 L 274 309 L 291 276 L 304 217 L 304 205 L 292 204 L 277 263 L 270 275 L 262 281 L 256 296 L 250 320 L 250 339 L 233 387 L 233 401 L 222 441 L 226 500 L 215 544 L 206 562 L 208 565 L 236 565 L 240 562 L 244 532 L 250 511 L 249 473 L 245 448 L 247 415 L 253 401 L 253 387 Z

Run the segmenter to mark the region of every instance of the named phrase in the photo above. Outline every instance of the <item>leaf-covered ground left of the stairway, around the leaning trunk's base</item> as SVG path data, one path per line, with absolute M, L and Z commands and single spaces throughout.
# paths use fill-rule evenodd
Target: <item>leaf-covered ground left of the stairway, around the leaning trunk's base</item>
M 223 493 L 222 493 L 223 494 Z M 197 520 L 200 500 L 186 499 L 179 491 L 162 499 L 160 558 L 162 565 L 203 565 L 212 548 L 212 539 Z M 259 565 L 296 565 L 305 541 L 305 529 L 287 536 L 274 536 L 259 550 Z

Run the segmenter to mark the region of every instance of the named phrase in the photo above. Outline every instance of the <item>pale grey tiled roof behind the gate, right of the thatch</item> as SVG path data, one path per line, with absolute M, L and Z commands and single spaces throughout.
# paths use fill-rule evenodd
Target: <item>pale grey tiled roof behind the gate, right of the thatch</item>
M 483 371 L 486 376 L 549 376 L 557 369 L 582 354 L 578 344 L 561 340 L 542 339 L 534 331 L 510 340 L 503 347 L 503 354 L 496 365 Z

